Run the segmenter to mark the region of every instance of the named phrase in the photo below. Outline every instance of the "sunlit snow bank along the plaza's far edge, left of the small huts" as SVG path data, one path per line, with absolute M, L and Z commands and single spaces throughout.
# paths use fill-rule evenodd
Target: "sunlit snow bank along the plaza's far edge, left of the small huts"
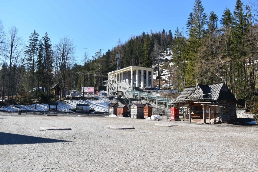
M 100 96 L 98 100 L 65 100 L 65 102 L 59 102 L 57 105 L 57 110 L 61 112 L 72 112 L 70 109 L 75 109 L 76 104 L 89 104 L 90 108 L 94 108 L 97 112 L 106 112 L 108 111 L 108 104 L 107 99 Z M 1 111 L 18 111 L 18 110 L 28 110 L 28 111 L 48 111 L 49 105 L 48 104 L 37 104 L 37 109 L 35 109 L 35 104 L 33 105 L 8 105 L 0 107 Z

